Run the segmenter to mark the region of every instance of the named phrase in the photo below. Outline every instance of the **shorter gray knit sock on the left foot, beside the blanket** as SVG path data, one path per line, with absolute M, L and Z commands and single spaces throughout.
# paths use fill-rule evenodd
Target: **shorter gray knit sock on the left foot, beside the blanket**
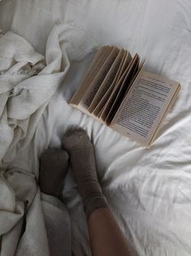
M 47 149 L 40 159 L 39 185 L 41 192 L 59 196 L 68 169 L 68 154 L 63 149 Z

